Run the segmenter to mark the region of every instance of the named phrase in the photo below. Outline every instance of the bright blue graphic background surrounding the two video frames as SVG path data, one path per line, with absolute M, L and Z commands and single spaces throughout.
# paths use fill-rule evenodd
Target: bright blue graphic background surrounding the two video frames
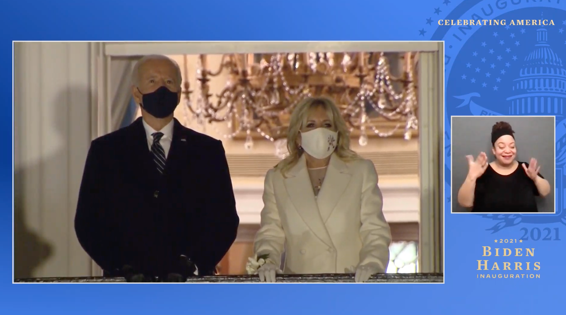
M 481 114 L 481 111 L 473 110 L 477 106 L 481 106 L 484 113 L 508 113 L 505 99 L 512 95 L 509 83 L 518 77 L 521 61 L 533 50 L 538 27 L 482 26 L 466 30 L 464 34 L 457 27 L 439 27 L 437 21 L 470 19 L 473 14 L 486 19 L 539 19 L 542 14 L 544 19 L 554 19 L 556 24 L 547 27 L 552 49 L 566 57 L 564 1 L 513 2 L 515 4 L 510 0 L 3 2 L 0 73 L 4 84 L 0 85 L 0 90 L 5 114 L 0 116 L 0 130 L 5 135 L 12 132 L 12 40 L 445 40 L 445 130 L 448 132 L 445 133 L 445 284 L 383 286 L 265 284 L 260 288 L 252 284 L 11 284 L 13 170 L 9 149 L 3 146 L 6 151 L 0 163 L 3 188 L 0 191 L 3 209 L 0 246 L 3 248 L 2 270 L 5 270 L 0 289 L 2 313 L 564 312 L 559 301 L 564 297 L 565 275 L 561 267 L 566 253 L 564 242 L 556 240 L 555 235 L 558 231 L 558 239 L 566 239 L 566 211 L 561 201 L 564 195 L 562 182 L 566 180 L 561 171 L 563 163 L 556 166 L 558 202 L 555 215 L 450 214 L 449 115 Z M 525 31 L 521 32 L 521 29 Z M 482 46 L 483 42 L 486 45 Z M 494 49 L 493 53 L 490 49 Z M 475 56 L 474 51 L 477 52 Z M 482 58 L 486 58 L 484 63 Z M 470 67 L 466 66 L 468 63 Z M 477 67 L 479 72 L 475 72 Z M 486 76 L 486 72 L 490 72 L 490 76 Z M 474 78 L 475 83 L 472 83 Z M 494 89 L 496 85 L 498 88 Z M 471 93 L 475 94 L 469 95 Z M 477 106 L 472 107 L 472 101 Z M 556 119 L 558 143 L 566 135 L 563 119 L 561 116 Z M 557 145 L 559 161 L 561 153 L 561 146 Z M 522 228 L 526 230 L 521 231 Z M 542 236 L 533 240 L 533 236 L 537 239 L 537 228 Z M 544 228 L 550 228 L 550 240 L 543 240 L 546 236 Z M 528 261 L 539 261 L 541 270 L 533 273 L 541 274 L 541 278 L 478 279 L 477 260 L 482 259 L 482 246 L 494 247 L 498 245 L 494 240 L 499 239 L 520 239 L 524 231 L 529 239 L 521 247 L 535 248 L 534 257 L 487 259 L 499 263 L 527 261 L 527 258 L 530 258 Z

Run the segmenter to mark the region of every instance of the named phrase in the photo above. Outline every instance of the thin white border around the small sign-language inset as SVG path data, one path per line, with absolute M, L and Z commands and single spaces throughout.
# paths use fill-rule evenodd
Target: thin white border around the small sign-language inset
M 512 117 L 513 119 L 516 118 L 548 118 L 548 117 L 552 117 L 554 118 L 554 145 L 556 145 L 556 116 L 552 116 L 552 115 L 529 115 L 529 116 L 524 116 L 524 115 L 503 115 L 503 116 L 474 116 L 474 115 L 455 115 L 455 116 L 450 116 L 450 145 L 452 147 L 452 127 L 454 126 L 453 124 L 453 118 L 485 118 L 485 117 L 500 117 L 502 119 L 508 118 L 508 117 Z M 552 165 L 552 169 L 554 170 L 554 187 L 551 187 L 552 189 L 554 189 L 554 212 L 538 212 L 538 214 L 556 214 L 556 148 L 554 150 L 552 150 L 552 152 L 554 152 L 554 165 Z M 452 170 L 452 156 L 450 157 L 450 169 Z M 452 175 L 454 174 L 454 172 L 450 172 L 450 196 L 451 196 L 451 200 L 450 200 L 450 213 L 451 214 L 534 214 L 532 212 L 453 212 L 454 210 L 454 196 L 452 196 L 452 188 L 453 188 L 453 183 L 454 183 L 454 176 Z M 456 196 L 457 199 L 457 196 Z M 458 202 L 456 200 L 456 202 Z

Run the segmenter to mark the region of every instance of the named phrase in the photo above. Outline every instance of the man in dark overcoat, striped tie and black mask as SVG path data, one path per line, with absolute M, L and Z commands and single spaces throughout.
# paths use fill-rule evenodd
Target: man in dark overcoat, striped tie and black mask
M 183 282 L 210 275 L 236 237 L 221 141 L 173 118 L 181 81 L 172 59 L 141 58 L 132 72 L 141 117 L 91 143 L 75 231 L 106 276 Z

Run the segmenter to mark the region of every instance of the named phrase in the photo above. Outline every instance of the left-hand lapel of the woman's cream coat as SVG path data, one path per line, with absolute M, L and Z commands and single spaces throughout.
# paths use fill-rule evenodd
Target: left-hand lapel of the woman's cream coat
M 308 176 L 305 156 L 299 159 L 297 165 L 291 168 L 284 179 L 285 189 L 289 194 L 289 199 L 293 206 L 301 215 L 303 221 L 311 229 L 311 231 L 329 247 L 334 247 L 332 239 L 328 234 L 323 219 L 320 217 L 318 206 L 312 184 Z

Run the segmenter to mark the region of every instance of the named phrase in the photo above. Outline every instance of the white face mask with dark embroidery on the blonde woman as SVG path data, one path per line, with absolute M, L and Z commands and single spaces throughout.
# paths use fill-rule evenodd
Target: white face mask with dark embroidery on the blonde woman
M 327 128 L 316 128 L 311 131 L 301 132 L 301 146 L 310 156 L 314 158 L 327 158 L 336 149 L 338 143 L 338 132 Z

